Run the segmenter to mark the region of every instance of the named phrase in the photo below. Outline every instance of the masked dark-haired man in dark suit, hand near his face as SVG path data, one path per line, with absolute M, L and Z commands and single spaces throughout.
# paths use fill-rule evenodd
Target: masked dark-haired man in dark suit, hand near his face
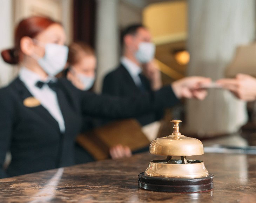
M 150 32 L 140 24 L 131 25 L 122 31 L 121 43 L 121 63 L 104 78 L 102 93 L 124 97 L 160 89 L 161 75 L 153 60 L 155 46 Z M 162 111 L 152 111 L 136 119 L 141 125 L 147 125 L 161 116 Z

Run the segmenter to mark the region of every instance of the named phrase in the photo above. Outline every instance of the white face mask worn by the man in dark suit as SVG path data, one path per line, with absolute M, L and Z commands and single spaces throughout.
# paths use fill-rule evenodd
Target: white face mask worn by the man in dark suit
M 154 58 L 155 49 L 155 44 L 151 42 L 141 42 L 139 49 L 135 53 L 135 57 L 141 63 L 148 63 Z

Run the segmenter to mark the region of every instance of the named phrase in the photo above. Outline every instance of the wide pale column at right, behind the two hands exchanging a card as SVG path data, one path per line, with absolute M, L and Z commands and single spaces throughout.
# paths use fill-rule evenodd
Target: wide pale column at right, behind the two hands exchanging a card
M 255 38 L 254 0 L 189 0 L 188 75 L 225 77 L 236 47 Z M 186 105 L 187 130 L 203 136 L 236 132 L 246 121 L 246 104 L 225 90 L 209 90 L 204 101 Z

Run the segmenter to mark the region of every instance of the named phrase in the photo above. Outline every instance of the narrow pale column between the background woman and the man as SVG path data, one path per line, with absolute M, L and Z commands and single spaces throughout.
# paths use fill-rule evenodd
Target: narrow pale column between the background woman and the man
M 118 0 L 97 0 L 96 54 L 98 63 L 96 92 L 101 92 L 104 76 L 115 68 L 119 62 L 117 5 Z

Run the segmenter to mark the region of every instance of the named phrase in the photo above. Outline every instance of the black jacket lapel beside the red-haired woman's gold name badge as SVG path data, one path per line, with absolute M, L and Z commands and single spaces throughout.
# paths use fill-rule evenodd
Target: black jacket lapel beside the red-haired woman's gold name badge
M 25 84 L 19 79 L 16 78 L 14 81 L 15 88 L 19 92 L 19 96 L 21 99 L 21 102 L 28 98 L 28 97 L 33 97 L 33 95 L 29 92 Z M 36 107 L 27 107 L 29 110 L 32 112 L 38 114 L 40 118 L 45 120 L 47 123 L 50 125 L 54 126 L 58 132 L 60 132 L 59 124 L 58 122 L 52 117 L 52 115 L 43 107 L 42 105 L 36 106 Z

